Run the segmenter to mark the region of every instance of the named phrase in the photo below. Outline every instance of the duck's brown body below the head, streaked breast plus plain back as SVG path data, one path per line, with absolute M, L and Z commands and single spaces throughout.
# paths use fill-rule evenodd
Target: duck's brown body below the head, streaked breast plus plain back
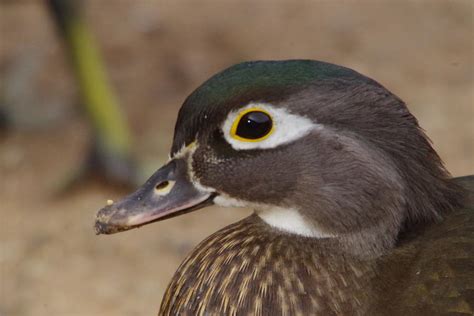
M 361 258 L 254 214 L 193 250 L 159 315 L 472 315 L 474 207 L 424 226 L 389 253 Z

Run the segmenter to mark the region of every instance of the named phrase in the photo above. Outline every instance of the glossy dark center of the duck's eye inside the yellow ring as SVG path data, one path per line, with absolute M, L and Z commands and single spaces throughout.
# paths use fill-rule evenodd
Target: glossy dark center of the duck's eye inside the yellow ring
M 259 139 L 267 135 L 272 129 L 272 119 L 264 112 L 254 111 L 246 113 L 237 125 L 237 136 L 247 139 Z

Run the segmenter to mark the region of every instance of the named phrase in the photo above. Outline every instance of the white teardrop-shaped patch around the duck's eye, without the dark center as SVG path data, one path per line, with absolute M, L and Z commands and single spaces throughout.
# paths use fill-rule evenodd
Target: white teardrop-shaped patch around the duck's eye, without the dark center
M 237 120 L 242 119 L 242 113 L 249 111 L 262 111 L 270 115 L 273 126 L 268 136 L 262 137 L 260 140 L 249 141 L 243 140 L 242 137 L 236 137 L 235 126 L 239 124 Z M 322 125 L 314 123 L 307 117 L 292 114 L 286 109 L 264 103 L 250 103 L 232 111 L 222 124 L 224 138 L 236 150 L 275 148 L 306 136 L 312 130 L 321 128 Z

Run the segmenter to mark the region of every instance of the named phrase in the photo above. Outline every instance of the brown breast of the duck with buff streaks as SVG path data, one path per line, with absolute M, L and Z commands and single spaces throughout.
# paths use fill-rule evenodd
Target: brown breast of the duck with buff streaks
M 335 242 L 278 232 L 252 215 L 188 256 L 160 315 L 363 314 L 372 262 L 340 253 Z

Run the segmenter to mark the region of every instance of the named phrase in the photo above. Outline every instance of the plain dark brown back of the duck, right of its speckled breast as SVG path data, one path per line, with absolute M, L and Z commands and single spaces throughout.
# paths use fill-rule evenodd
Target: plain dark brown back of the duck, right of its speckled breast
M 377 265 L 374 315 L 473 315 L 473 203 L 403 234 Z

